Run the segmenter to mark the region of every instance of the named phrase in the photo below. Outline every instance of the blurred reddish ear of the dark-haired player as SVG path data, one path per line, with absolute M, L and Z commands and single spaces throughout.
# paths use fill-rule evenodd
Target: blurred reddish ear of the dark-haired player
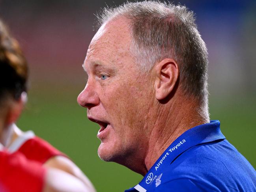
M 11 101 L 8 108 L 6 120 L 5 120 L 5 126 L 8 126 L 17 121 L 17 119 L 22 113 L 26 100 L 27 100 L 26 92 L 23 92 L 19 100 Z

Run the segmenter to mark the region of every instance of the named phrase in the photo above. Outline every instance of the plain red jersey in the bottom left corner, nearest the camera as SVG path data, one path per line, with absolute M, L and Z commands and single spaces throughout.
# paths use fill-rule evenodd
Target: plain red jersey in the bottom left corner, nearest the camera
M 46 170 L 41 164 L 29 161 L 17 153 L 0 151 L 1 192 L 41 192 Z

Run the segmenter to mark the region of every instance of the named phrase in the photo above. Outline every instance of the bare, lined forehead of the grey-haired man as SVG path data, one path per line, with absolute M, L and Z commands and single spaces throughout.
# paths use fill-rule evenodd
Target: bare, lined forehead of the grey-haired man
M 117 60 L 131 56 L 131 32 L 127 23 L 125 19 L 114 19 L 103 24 L 90 43 L 87 58 L 107 57 Z

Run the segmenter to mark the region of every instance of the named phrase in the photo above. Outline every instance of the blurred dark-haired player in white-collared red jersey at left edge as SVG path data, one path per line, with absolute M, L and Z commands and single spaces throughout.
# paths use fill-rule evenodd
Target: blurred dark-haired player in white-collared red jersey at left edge
M 94 192 L 95 189 L 92 183 L 66 155 L 35 136 L 32 131 L 22 132 L 15 125 L 26 103 L 27 78 L 28 66 L 21 49 L 17 41 L 9 35 L 3 22 L 0 21 L 0 144 L 6 150 L 1 153 L 3 155 L 1 156 L 2 162 L 10 163 L 11 168 L 16 166 L 12 165 L 13 161 L 17 161 L 18 164 L 19 162 L 28 161 L 24 164 L 25 166 L 36 162 L 35 167 L 42 168 L 37 170 L 32 169 L 33 166 L 31 166 L 30 169 L 39 171 L 44 166 L 50 168 L 48 172 L 52 172 L 52 168 L 54 168 L 53 175 L 58 177 L 53 177 L 52 174 L 49 175 L 50 182 L 55 181 L 54 183 L 60 186 L 69 186 L 66 189 L 73 189 L 71 191 L 79 190 L 74 185 L 78 183 L 82 184 L 82 191 Z M 13 158 L 10 158 L 10 155 Z M 24 156 L 21 157 L 21 161 L 18 158 L 19 156 Z M 6 158 L 8 160 L 5 160 Z M 18 160 L 15 160 L 16 158 Z M 0 166 L 4 165 L 1 164 Z M 55 174 L 56 170 L 58 174 Z M 5 177 L 3 167 L 1 171 L 2 176 Z M 66 177 L 70 179 L 70 182 L 65 181 Z

